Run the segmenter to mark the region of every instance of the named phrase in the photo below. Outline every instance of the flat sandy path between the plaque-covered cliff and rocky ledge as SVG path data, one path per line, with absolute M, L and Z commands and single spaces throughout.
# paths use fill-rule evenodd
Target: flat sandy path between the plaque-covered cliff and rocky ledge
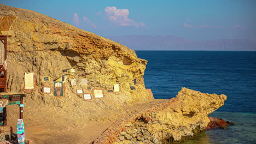
M 68 125 L 60 121 L 57 125 L 42 125 L 36 122 L 33 126 L 25 125 L 26 139 L 31 139 L 36 144 L 82 144 L 91 143 L 98 136 L 100 136 L 104 130 L 106 130 L 113 122 L 131 116 L 132 113 L 149 109 L 150 106 L 163 103 L 164 99 L 155 99 L 147 101 L 147 103 L 137 103 L 134 105 L 126 105 L 122 109 L 113 111 L 112 113 L 106 113 L 103 121 L 93 121 L 88 125 Z M 69 119 L 72 121 L 72 119 Z M 77 121 L 74 119 L 73 121 Z M 80 121 L 83 121 L 80 119 Z M 86 121 L 84 121 L 86 123 Z

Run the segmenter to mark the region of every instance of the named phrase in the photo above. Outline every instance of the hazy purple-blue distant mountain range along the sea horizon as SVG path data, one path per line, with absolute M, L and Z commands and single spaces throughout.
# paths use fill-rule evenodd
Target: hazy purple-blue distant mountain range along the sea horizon
M 193 41 L 174 35 L 121 35 L 106 38 L 133 50 L 256 51 L 256 43 L 248 39 Z

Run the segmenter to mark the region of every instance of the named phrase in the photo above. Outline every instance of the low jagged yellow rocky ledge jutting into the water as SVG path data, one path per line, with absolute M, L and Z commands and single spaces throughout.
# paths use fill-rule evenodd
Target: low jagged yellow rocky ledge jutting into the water
M 166 143 L 191 139 L 207 129 L 212 119 L 207 115 L 225 100 L 224 94 L 182 88 L 176 98 L 115 123 L 94 143 Z

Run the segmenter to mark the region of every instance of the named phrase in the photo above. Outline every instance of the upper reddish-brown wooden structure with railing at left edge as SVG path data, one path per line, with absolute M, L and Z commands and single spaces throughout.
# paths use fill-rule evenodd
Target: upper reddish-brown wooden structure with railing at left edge
M 6 92 L 7 70 L 4 69 L 4 61 L 7 59 L 7 37 L 0 35 L 0 92 Z

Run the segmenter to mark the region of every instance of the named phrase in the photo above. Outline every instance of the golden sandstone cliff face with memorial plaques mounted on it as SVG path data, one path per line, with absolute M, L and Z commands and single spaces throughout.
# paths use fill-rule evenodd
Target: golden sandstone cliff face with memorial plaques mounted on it
M 35 11 L 3 4 L 0 34 L 11 35 L 7 52 L 8 91 L 27 93 L 25 119 L 38 114 L 44 118 L 60 117 L 70 112 L 74 113 L 73 118 L 97 119 L 106 110 L 153 99 L 143 82 L 147 61 L 124 45 Z M 75 73 L 69 69 L 75 69 Z M 34 89 L 24 89 L 24 73 L 34 73 Z M 47 76 L 49 81 L 44 82 L 43 77 Z M 62 76 L 66 76 L 63 97 L 56 98 L 54 81 Z M 75 79 L 76 86 L 71 86 L 71 79 Z M 82 85 L 82 79 L 88 85 Z M 114 84 L 119 84 L 120 91 L 109 93 Z M 131 86 L 136 89 L 131 90 Z M 50 87 L 51 92 L 44 93 L 44 87 Z M 92 95 L 91 101 L 84 101 L 77 89 L 89 94 L 101 89 L 104 98 L 95 99 Z

